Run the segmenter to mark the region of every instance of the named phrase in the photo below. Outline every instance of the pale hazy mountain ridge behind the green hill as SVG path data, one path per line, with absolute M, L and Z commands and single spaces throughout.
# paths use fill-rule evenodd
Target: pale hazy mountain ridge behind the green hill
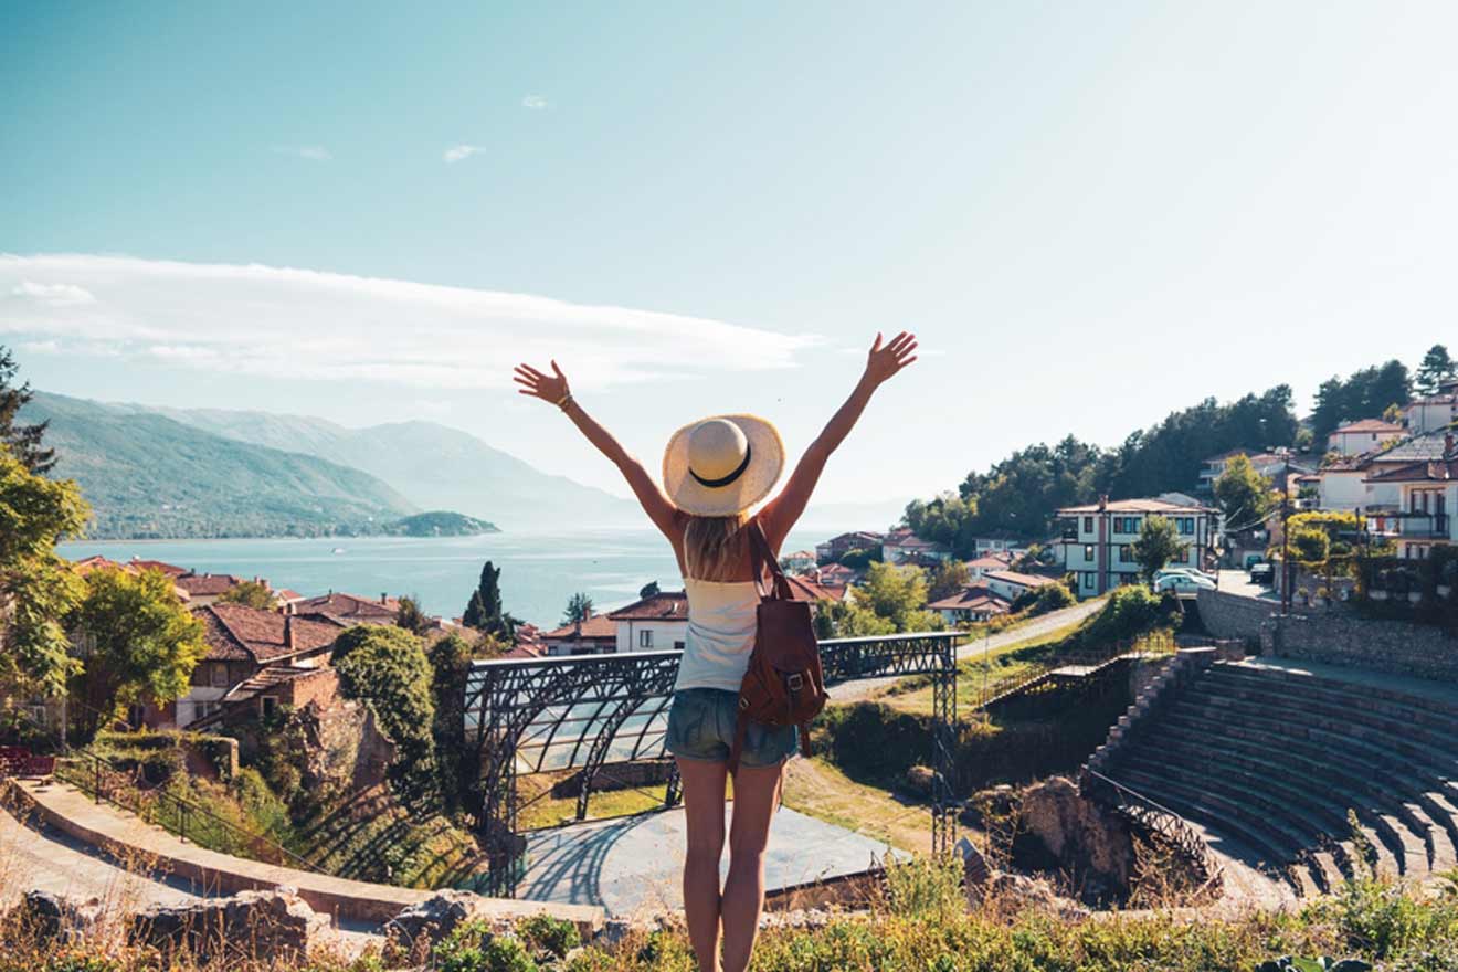
M 141 407 L 127 407 L 137 408 Z M 426 510 L 459 510 L 502 529 L 639 523 L 637 504 L 547 475 L 475 436 L 429 421 L 346 428 L 308 415 L 213 408 L 143 409 L 219 436 L 363 469 Z

